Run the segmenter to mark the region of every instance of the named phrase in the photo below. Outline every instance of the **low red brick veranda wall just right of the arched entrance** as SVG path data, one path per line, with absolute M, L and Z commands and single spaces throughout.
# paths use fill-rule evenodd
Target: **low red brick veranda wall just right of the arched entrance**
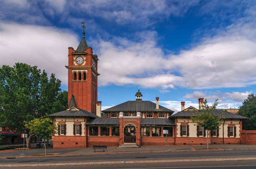
M 167 137 L 167 144 L 169 146 L 174 145 L 174 137 Z M 165 146 L 166 137 L 141 137 L 142 146 Z

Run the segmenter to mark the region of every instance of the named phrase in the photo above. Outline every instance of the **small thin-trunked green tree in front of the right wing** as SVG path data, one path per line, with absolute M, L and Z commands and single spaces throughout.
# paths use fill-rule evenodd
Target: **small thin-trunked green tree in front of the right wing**
M 197 112 L 196 116 L 192 116 L 192 122 L 199 124 L 207 130 L 207 149 L 209 149 L 209 130 L 217 129 L 220 126 L 221 118 L 216 117 L 211 113 L 212 110 L 216 109 L 218 105 L 218 99 L 215 100 L 212 106 L 207 104 L 207 99 L 203 102 L 202 112 Z M 195 125 L 197 125 L 195 124 Z

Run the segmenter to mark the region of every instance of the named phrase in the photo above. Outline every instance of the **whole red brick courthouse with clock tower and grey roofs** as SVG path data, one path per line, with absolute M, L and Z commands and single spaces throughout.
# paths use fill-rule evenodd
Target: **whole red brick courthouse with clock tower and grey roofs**
M 54 149 L 92 147 L 92 145 L 203 145 L 207 144 L 207 133 L 203 127 L 192 123 L 190 116 L 200 112 L 181 102 L 182 111 L 173 115 L 172 110 L 156 103 L 143 101 L 140 90 L 133 101 L 118 104 L 101 111 L 97 101 L 97 55 L 88 47 L 84 37 L 74 50 L 69 47 L 68 55 L 68 101 L 69 107 L 49 116 L 58 125 L 54 139 Z M 102 112 L 106 115 L 101 117 Z M 210 144 L 240 144 L 242 119 L 246 117 L 214 110 L 216 116 L 224 114 L 225 119 L 219 129 L 209 131 Z M 249 134 L 244 134 L 247 138 Z

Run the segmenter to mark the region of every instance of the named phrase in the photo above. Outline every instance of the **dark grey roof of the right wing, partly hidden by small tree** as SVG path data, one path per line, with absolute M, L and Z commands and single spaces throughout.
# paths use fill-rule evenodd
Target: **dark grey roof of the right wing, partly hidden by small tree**
M 202 111 L 200 110 L 198 113 L 200 113 L 200 112 L 202 112 Z M 225 119 L 248 119 L 248 117 L 243 117 L 238 114 L 225 112 L 220 109 L 212 110 L 211 113 L 219 118 L 225 118 Z M 191 117 L 191 116 L 196 116 L 196 115 L 197 115 L 196 111 L 181 111 L 181 112 L 177 112 L 176 114 L 173 114 L 172 117 Z

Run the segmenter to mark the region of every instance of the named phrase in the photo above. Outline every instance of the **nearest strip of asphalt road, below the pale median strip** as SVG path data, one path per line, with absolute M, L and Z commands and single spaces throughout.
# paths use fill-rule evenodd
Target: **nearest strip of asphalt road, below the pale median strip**
M 173 162 L 76 166 L 12 167 L 13 169 L 256 169 L 256 160 L 221 162 Z M 1 169 L 10 169 L 3 167 Z

